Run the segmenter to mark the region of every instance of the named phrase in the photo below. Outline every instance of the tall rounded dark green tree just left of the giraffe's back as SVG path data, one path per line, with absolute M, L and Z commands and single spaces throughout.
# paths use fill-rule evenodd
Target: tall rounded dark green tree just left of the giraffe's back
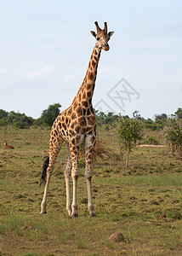
M 41 120 L 44 124 L 52 126 L 54 120 L 60 113 L 61 105 L 60 103 L 54 103 L 53 105 L 49 105 L 47 109 L 43 110 L 41 115 Z

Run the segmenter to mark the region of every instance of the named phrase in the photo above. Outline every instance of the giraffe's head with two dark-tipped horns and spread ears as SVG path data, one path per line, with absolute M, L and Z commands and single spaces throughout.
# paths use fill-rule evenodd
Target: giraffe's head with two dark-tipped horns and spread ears
M 98 25 L 98 22 L 94 22 L 96 28 L 97 28 L 97 33 L 94 31 L 91 31 L 91 34 L 96 38 L 96 44 L 98 45 L 99 48 L 109 50 L 110 46 L 108 44 L 108 41 L 110 40 L 111 36 L 113 35 L 114 32 L 107 32 L 107 23 L 105 22 L 105 27 L 104 29 L 100 29 L 100 26 Z

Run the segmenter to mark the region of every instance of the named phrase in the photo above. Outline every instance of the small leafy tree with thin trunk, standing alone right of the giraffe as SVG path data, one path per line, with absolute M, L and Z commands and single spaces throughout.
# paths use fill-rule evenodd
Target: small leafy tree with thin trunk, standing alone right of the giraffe
M 126 168 L 128 168 L 128 156 L 137 142 L 142 139 L 142 127 L 137 119 L 121 117 L 119 123 L 119 143 L 121 144 L 121 150 L 124 148 L 127 151 Z

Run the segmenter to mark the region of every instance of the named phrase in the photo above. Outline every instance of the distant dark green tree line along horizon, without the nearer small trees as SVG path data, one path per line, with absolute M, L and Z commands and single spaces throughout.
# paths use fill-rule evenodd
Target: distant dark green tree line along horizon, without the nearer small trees
M 60 103 L 54 103 L 49 105 L 47 109 L 44 109 L 41 116 L 38 119 L 26 116 L 25 113 L 15 113 L 14 111 L 7 112 L 0 109 L 0 126 L 14 125 L 18 129 L 26 129 L 31 126 L 52 126 L 54 120 L 60 113 Z M 110 125 L 118 122 L 120 115 L 112 112 L 104 113 L 102 111 L 94 109 L 94 113 L 97 118 L 98 125 L 105 125 L 106 129 L 109 129 Z M 182 108 L 174 113 L 178 119 L 182 119 Z M 129 119 L 128 115 L 125 116 Z M 139 114 L 139 111 L 134 111 L 133 118 L 140 120 L 146 129 L 157 131 L 162 130 L 168 122 L 168 115 L 166 113 L 156 114 L 153 119 L 144 119 Z

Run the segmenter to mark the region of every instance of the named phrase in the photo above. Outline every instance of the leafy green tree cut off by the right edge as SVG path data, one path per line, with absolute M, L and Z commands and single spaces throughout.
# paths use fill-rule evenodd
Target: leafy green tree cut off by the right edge
M 168 119 L 166 127 L 166 138 L 170 143 L 171 153 L 177 151 L 179 158 L 182 158 L 182 120 L 175 116 Z

